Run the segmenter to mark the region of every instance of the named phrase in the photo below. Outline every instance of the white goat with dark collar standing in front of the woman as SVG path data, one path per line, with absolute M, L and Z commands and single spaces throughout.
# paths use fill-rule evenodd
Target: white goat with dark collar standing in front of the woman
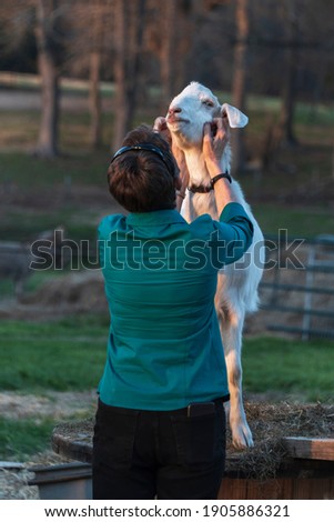
M 245 114 L 234 107 L 227 103 L 221 106 L 216 97 L 198 82 L 190 83 L 170 104 L 166 124 L 173 142 L 184 152 L 190 173 L 190 187 L 192 188 L 210 187 L 210 174 L 202 155 L 203 126 L 217 117 L 227 118 L 230 127 L 244 127 L 249 121 Z M 226 145 L 221 158 L 221 167 L 222 172 L 230 172 L 230 144 Z M 231 395 L 230 426 L 233 444 L 236 448 L 245 448 L 253 445 L 253 439 L 242 400 L 242 330 L 245 314 L 257 309 L 257 285 L 263 268 L 261 260 L 254 259 L 254 249 L 256 244 L 261 244 L 263 235 L 235 180 L 233 180 L 231 189 L 235 200 L 244 207 L 253 222 L 254 238 L 243 260 L 237 262 L 237 267 L 230 264 L 220 272 L 215 305 L 227 369 Z M 188 221 L 192 221 L 203 213 L 219 219 L 214 192 L 201 193 L 186 190 L 181 213 Z M 259 249 L 256 251 L 259 252 Z

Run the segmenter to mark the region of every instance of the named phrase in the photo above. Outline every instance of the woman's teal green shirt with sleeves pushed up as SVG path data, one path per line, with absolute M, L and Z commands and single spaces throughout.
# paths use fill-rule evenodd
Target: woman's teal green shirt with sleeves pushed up
M 99 252 L 110 309 L 105 404 L 175 410 L 229 394 L 217 272 L 251 244 L 243 207 L 188 223 L 176 210 L 108 215 Z

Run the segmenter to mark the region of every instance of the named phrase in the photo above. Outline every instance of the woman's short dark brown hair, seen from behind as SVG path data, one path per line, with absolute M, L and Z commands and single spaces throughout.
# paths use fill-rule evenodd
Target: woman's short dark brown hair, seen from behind
M 139 143 L 159 148 L 164 159 L 148 150 L 129 150 L 120 154 L 108 169 L 110 193 L 130 212 L 174 209 L 174 180 L 179 169 L 169 143 L 148 126 L 129 132 L 122 147 Z

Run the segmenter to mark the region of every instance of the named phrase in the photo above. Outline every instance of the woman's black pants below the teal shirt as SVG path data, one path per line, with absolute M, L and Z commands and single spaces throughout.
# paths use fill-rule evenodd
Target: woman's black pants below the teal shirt
M 225 412 L 142 411 L 99 401 L 93 499 L 216 499 L 225 464 Z

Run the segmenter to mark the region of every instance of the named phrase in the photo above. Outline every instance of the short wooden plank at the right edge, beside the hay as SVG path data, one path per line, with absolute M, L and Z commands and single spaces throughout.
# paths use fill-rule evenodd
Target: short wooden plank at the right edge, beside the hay
M 283 439 L 290 456 L 334 462 L 334 439 L 285 436 Z

